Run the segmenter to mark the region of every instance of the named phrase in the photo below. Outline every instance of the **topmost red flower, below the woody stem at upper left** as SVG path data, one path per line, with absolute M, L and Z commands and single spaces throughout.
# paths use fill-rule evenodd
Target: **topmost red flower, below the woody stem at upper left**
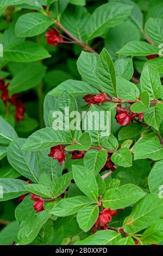
M 59 33 L 58 29 L 52 28 L 53 30 L 48 30 L 45 34 L 45 37 L 47 38 L 47 42 L 51 46 L 56 46 L 62 44 L 64 41 L 62 36 Z

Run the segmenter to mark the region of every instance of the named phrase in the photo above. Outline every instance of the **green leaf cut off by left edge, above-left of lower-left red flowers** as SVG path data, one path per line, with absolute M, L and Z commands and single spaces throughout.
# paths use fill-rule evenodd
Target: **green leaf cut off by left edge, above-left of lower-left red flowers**
M 25 181 L 18 179 L 0 179 L 0 202 L 26 194 L 27 190 L 24 187 L 26 184 Z

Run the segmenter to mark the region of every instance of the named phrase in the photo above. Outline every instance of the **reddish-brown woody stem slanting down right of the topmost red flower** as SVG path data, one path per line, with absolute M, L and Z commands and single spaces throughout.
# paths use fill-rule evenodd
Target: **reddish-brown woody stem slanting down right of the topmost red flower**
M 78 38 L 76 38 L 74 35 L 72 35 L 69 31 L 67 31 L 67 29 L 64 26 L 62 26 L 59 21 L 55 21 L 55 25 L 57 25 L 58 28 L 61 28 L 62 31 L 64 31 L 65 34 L 67 34 L 71 39 L 76 41 L 76 43 L 78 45 L 82 46 L 85 51 L 98 54 L 91 46 L 84 44 L 82 41 L 80 41 Z

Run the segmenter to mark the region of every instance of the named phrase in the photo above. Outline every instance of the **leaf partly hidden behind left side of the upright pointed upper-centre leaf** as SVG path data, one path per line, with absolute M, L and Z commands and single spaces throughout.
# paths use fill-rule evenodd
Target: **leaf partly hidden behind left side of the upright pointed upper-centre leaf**
M 98 58 L 99 56 L 95 53 L 82 51 L 77 60 L 79 74 L 84 81 L 95 87 L 98 87 L 98 78 L 96 75 Z

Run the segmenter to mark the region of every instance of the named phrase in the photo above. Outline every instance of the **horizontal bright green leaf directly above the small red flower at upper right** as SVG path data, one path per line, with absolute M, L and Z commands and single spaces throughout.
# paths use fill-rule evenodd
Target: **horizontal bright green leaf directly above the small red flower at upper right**
M 150 45 L 147 42 L 130 41 L 117 53 L 127 56 L 147 56 L 151 54 L 158 54 L 158 52 L 158 47 Z

